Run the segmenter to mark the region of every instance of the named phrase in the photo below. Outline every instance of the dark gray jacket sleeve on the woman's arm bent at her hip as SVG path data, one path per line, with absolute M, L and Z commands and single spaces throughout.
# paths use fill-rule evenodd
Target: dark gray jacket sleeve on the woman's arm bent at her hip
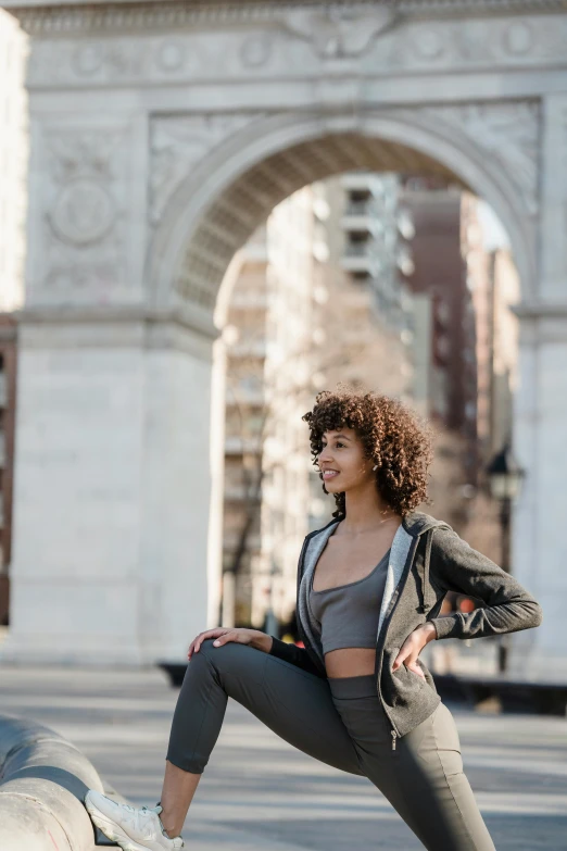
M 434 530 L 430 579 L 444 591 L 459 591 L 483 601 L 474 612 L 434 617 L 439 638 L 482 638 L 540 626 L 541 605 L 511 574 L 474 550 L 453 529 Z

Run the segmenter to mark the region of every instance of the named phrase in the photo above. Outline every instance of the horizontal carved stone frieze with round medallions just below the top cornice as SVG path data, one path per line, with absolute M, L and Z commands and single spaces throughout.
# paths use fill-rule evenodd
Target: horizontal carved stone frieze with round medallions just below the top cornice
M 396 10 L 399 8 L 396 7 Z M 286 9 L 269 26 L 222 32 L 172 28 L 169 35 L 136 38 L 104 33 L 90 38 L 38 40 L 32 51 L 29 80 L 54 84 L 139 85 L 160 80 L 231 82 L 259 68 L 286 78 L 318 76 L 332 62 L 391 76 L 400 71 L 499 68 L 567 65 L 567 16 L 540 15 L 412 20 L 390 7 L 366 10 Z

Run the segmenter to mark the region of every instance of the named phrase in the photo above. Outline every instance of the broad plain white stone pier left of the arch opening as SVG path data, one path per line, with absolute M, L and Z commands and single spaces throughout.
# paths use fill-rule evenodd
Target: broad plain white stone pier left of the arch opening
M 2 659 L 182 660 L 207 627 L 211 329 L 29 310 L 20 339 Z

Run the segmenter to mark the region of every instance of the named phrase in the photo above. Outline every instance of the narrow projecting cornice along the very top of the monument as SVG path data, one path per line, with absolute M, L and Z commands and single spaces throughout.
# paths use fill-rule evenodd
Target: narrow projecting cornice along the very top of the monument
M 356 10 L 388 8 L 396 15 L 446 17 L 448 15 L 507 15 L 514 13 L 557 13 L 567 11 L 567 0 L 94 0 L 79 3 L 67 0 L 49 3 L 41 0 L 4 0 L 2 3 L 30 35 L 67 36 L 76 33 L 169 29 L 179 26 L 212 24 L 278 23 L 298 9 L 327 9 L 352 14 Z

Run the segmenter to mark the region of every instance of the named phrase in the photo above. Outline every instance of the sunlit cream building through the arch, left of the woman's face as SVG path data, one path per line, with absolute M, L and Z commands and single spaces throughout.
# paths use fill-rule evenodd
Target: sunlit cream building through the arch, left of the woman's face
M 310 187 L 276 207 L 239 252 L 228 308 L 224 595 L 238 624 L 290 617 L 307 531 L 314 266 Z M 234 584 L 234 591 L 231 586 Z M 231 618 L 226 600 L 223 623 Z

